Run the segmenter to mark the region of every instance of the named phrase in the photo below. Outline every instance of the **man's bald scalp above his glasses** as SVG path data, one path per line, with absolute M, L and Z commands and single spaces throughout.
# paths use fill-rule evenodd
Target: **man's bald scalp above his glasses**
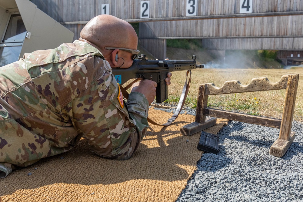
M 137 49 L 137 34 L 128 22 L 112 15 L 98 15 L 92 18 L 80 33 L 81 41 L 88 41 L 99 50 L 104 47 Z

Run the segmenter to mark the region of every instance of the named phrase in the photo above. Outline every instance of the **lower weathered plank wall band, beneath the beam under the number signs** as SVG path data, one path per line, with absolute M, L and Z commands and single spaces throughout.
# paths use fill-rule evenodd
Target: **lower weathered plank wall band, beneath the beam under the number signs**
M 208 49 L 303 49 L 303 15 L 141 22 L 139 38 L 198 38 Z

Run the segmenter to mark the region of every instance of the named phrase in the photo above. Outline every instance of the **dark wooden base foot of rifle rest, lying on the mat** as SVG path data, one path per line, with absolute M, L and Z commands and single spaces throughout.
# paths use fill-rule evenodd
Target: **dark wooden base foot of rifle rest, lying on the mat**
M 209 128 L 209 127 L 215 125 L 216 123 L 217 123 L 217 118 L 206 117 L 206 120 L 203 123 L 192 122 L 190 124 L 187 124 L 187 125 L 181 127 L 180 133 L 182 135 L 190 136 L 192 134 L 203 131 L 206 128 Z

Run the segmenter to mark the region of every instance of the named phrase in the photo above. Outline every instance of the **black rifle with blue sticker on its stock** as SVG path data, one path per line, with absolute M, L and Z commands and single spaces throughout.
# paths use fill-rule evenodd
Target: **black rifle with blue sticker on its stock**
M 165 78 L 168 72 L 192 70 L 195 68 L 204 68 L 204 65 L 196 65 L 196 56 L 192 56 L 193 60 L 146 60 L 145 55 L 134 60 L 129 68 L 112 68 L 113 75 L 119 84 L 124 84 L 132 78 L 143 78 L 155 81 L 156 102 L 167 100 L 167 85 Z

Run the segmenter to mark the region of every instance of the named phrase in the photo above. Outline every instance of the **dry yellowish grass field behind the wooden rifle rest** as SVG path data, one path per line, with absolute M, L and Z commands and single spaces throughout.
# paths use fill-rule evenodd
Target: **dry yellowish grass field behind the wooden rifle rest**
M 239 80 L 248 85 L 252 78 L 267 77 L 271 82 L 277 82 L 282 75 L 300 74 L 303 68 L 296 69 L 195 69 L 191 76 L 191 89 L 187 105 L 195 107 L 198 86 L 202 83 L 214 83 L 221 87 L 225 81 Z M 172 84 L 168 87 L 168 102 L 175 101 L 181 94 L 185 82 L 185 71 L 173 72 Z M 208 105 L 229 111 L 239 111 L 248 114 L 282 118 L 286 90 L 212 95 L 208 97 Z M 303 78 L 299 78 L 294 120 L 303 121 Z

